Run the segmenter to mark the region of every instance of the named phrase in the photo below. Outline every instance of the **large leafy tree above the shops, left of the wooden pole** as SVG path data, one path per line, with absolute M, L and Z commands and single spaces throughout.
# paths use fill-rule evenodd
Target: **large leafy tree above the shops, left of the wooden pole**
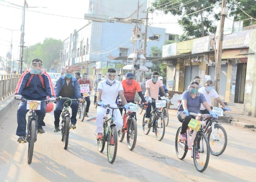
M 178 23 L 185 33 L 179 40 L 184 41 L 207 36 L 213 31 L 215 27 L 209 17 L 214 9 L 214 6 L 211 5 L 217 2 L 220 2 L 220 0 L 156 0 L 152 3 L 152 6 L 157 10 L 164 11 L 165 14 L 171 12 L 172 15 L 182 16 Z M 209 6 L 211 7 L 204 9 Z

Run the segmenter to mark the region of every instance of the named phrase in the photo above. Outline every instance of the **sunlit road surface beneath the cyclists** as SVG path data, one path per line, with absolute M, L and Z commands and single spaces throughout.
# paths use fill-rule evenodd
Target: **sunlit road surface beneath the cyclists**
M 0 181 L 255 181 L 256 132 L 230 124 L 222 124 L 228 134 L 226 151 L 211 155 L 208 168 L 196 170 L 190 151 L 181 161 L 175 153 L 175 134 L 181 125 L 170 112 L 164 139 L 159 142 L 154 133 L 142 132 L 142 115 L 138 115 L 138 138 L 133 151 L 126 139 L 118 142 L 113 164 L 97 148 L 94 134 L 96 122 L 81 122 L 69 134 L 68 149 L 63 149 L 60 132 L 54 133 L 53 112 L 45 117 L 46 133 L 38 135 L 33 160 L 27 163 L 28 144 L 17 142 L 17 108 L 0 122 Z M 90 107 L 90 117 L 96 109 Z

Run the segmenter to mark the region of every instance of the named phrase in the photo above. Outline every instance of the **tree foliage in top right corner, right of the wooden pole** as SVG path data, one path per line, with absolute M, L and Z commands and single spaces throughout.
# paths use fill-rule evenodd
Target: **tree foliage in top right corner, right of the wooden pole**
M 244 20 L 250 18 L 244 12 L 252 17 L 256 17 L 256 1 L 255 0 L 228 0 L 227 6 L 231 16 L 234 16 L 234 21 Z M 243 9 L 239 9 L 239 7 Z M 255 20 L 244 20 L 243 26 L 255 24 Z

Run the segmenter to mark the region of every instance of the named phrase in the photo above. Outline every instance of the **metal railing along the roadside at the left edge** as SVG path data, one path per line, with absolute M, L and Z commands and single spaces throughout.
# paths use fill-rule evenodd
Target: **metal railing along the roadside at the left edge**
M 11 95 L 18 84 L 21 74 L 0 75 L 0 100 Z

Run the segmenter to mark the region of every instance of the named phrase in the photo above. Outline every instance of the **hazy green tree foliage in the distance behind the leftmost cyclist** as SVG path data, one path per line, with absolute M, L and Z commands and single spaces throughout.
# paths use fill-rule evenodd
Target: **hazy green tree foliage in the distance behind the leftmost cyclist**
M 24 57 L 28 56 L 28 65 L 33 59 L 41 59 L 44 64 L 44 68 L 50 68 L 54 64 L 55 59 L 59 59 L 60 49 L 62 42 L 53 38 L 44 39 L 43 44 L 37 43 L 28 47 L 27 51 L 24 51 Z

